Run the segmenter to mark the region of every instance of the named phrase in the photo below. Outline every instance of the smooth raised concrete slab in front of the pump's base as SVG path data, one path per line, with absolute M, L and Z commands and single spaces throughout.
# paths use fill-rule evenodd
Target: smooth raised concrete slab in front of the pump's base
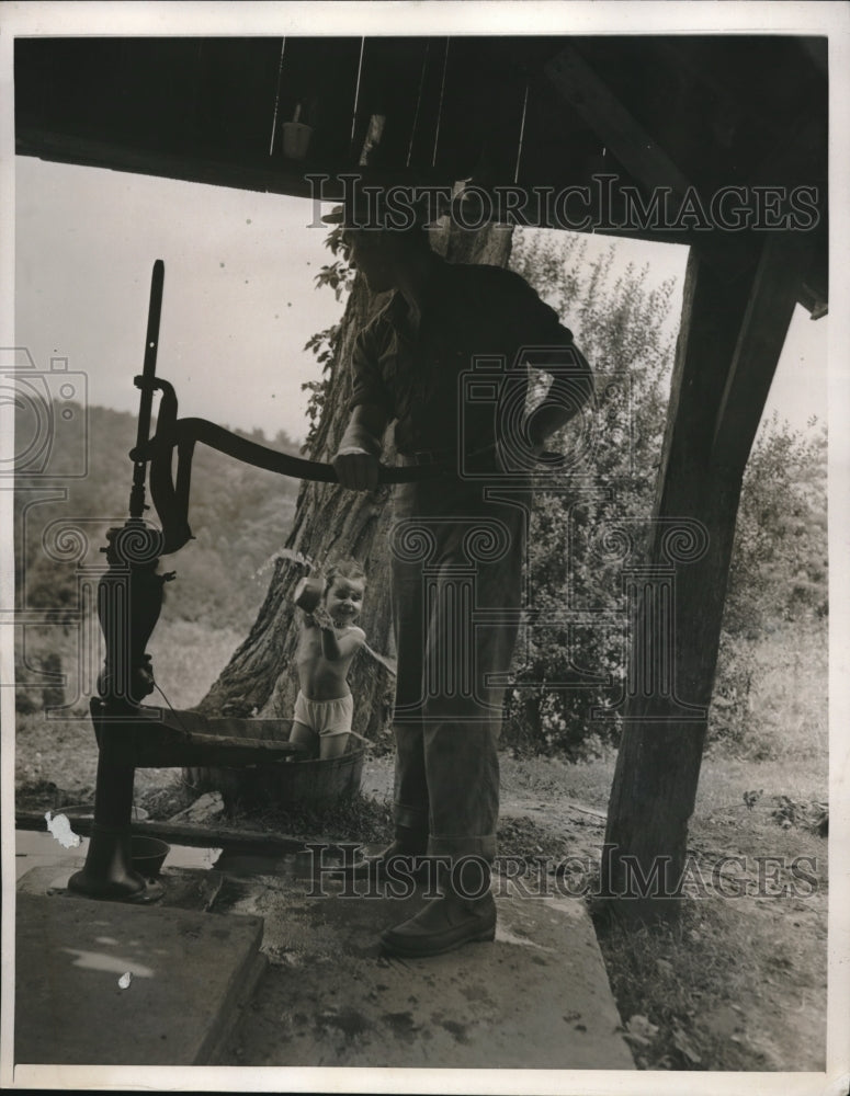
M 258 917 L 26 890 L 16 895 L 16 1063 L 211 1061 L 262 969 Z

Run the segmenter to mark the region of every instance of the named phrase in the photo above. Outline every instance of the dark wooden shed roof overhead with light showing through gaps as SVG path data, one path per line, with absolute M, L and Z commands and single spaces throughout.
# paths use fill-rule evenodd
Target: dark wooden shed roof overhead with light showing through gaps
M 241 189 L 308 195 L 306 176 L 327 174 L 332 196 L 375 117 L 369 170 L 419 185 L 610 174 L 614 202 L 693 189 L 706 207 L 729 186 L 809 187 L 820 246 L 804 302 L 826 299 L 826 38 L 19 38 L 14 78 L 19 153 Z M 282 150 L 296 112 L 313 128 L 304 161 Z M 602 208 L 600 187 L 592 201 L 597 228 L 706 246 L 693 219 L 659 229 Z

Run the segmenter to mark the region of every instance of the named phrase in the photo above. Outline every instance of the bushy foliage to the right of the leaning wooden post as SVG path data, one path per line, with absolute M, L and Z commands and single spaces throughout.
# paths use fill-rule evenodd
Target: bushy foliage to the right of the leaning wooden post
M 816 744 L 826 697 L 826 651 L 818 648 L 829 608 L 826 476 L 825 429 L 803 434 L 775 414 L 762 425 L 738 507 L 710 749 L 775 757 L 785 749 L 768 731 L 777 721 L 791 738 Z M 759 664 L 763 642 L 770 665 Z

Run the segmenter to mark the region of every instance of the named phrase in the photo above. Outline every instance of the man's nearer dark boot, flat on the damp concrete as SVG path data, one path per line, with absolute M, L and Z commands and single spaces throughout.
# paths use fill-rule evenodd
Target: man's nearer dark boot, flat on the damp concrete
M 472 870 L 475 871 L 473 878 Z M 408 959 L 454 951 L 464 944 L 496 937 L 496 902 L 490 893 L 489 865 L 476 859 L 441 872 L 440 897 L 409 921 L 388 928 L 381 944 L 390 955 Z M 484 892 L 484 893 L 481 893 Z

